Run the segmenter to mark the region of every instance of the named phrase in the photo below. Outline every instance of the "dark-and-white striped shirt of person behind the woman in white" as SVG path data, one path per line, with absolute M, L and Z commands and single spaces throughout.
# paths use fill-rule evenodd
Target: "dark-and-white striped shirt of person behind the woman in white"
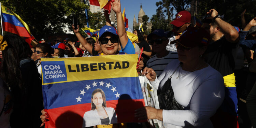
M 154 69 L 154 71 L 156 72 L 156 76 L 159 76 L 165 69 L 167 64 L 173 59 L 178 59 L 177 52 L 169 52 L 169 54 L 162 58 L 158 58 L 155 54 L 147 61 L 146 67 Z

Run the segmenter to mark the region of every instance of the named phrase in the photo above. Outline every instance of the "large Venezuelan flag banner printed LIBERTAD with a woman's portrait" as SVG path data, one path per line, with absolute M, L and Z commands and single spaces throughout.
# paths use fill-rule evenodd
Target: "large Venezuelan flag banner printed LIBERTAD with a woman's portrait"
M 134 110 L 145 105 L 136 71 L 138 55 L 41 61 L 44 109 L 49 114 L 46 128 L 100 125 L 99 113 L 91 109 L 94 104 L 104 106 L 106 124 L 138 122 Z M 95 99 L 97 90 L 101 100 Z

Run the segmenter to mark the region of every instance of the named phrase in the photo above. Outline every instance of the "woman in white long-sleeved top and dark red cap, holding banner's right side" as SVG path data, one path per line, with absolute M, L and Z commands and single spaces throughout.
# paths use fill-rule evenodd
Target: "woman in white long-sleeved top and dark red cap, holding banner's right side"
M 159 38 L 152 35 L 152 39 Z M 210 117 L 214 115 L 224 99 L 224 81 L 221 74 L 204 62 L 210 34 L 203 28 L 190 27 L 176 43 L 179 60 L 172 60 L 156 78 L 151 68 L 143 73 L 152 86 L 163 87 L 170 76 L 177 103 L 184 110 L 160 110 L 149 106 L 136 110 L 138 119 L 159 119 L 168 128 L 213 127 Z M 173 74 L 173 75 L 172 75 Z

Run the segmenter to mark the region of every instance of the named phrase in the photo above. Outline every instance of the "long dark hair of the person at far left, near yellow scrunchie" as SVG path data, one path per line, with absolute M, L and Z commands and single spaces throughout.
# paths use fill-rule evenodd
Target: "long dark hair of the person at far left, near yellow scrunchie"
M 19 61 L 23 58 L 29 58 L 32 51 L 21 37 L 18 35 L 4 35 L 8 46 L 2 51 L 3 59 L 0 69 L 0 77 L 9 87 L 23 88 L 22 75 L 19 69 Z

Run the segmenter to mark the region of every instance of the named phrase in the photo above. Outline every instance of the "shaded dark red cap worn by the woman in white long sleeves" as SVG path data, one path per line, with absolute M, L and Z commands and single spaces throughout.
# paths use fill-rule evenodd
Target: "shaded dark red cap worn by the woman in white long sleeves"
M 170 44 L 180 43 L 182 46 L 191 48 L 195 46 L 207 46 L 210 34 L 204 28 L 189 27 L 185 33 Z

